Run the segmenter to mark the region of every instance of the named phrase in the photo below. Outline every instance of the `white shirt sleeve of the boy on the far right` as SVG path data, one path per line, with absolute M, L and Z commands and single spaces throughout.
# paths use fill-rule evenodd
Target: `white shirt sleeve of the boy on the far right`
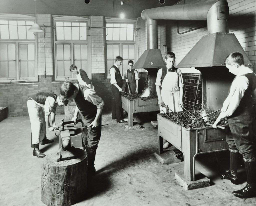
M 244 96 L 245 90 L 249 86 L 249 80 L 245 76 L 238 76 L 231 84 L 230 92 L 226 100 L 223 102 L 220 118 L 231 116 L 240 104 L 240 100 Z

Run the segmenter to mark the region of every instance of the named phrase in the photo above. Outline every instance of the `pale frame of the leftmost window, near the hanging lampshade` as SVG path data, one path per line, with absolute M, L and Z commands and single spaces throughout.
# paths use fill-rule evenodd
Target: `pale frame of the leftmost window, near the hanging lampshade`
M 16 21 L 33 21 L 35 22 L 35 16 L 22 15 L 22 14 L 0 14 L 0 20 L 16 20 Z M 27 30 L 26 30 L 27 31 Z M 28 32 L 28 31 L 27 31 Z M 38 65 L 37 65 L 37 47 L 38 36 L 35 35 L 35 39 L 0 39 L 1 44 L 15 44 L 15 58 L 16 58 L 16 77 L 0 77 L 0 83 L 10 82 L 38 82 Z M 33 77 L 20 77 L 20 44 L 34 44 L 35 45 L 35 76 Z M 14 79 L 15 78 L 15 79 Z

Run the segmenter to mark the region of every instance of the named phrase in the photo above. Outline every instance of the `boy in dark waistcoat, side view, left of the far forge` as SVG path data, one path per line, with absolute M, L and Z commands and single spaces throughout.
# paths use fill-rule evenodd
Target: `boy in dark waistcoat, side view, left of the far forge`
M 123 79 L 120 74 L 119 66 L 122 65 L 123 58 L 121 56 L 117 56 L 115 58 L 115 63 L 111 66 L 110 73 L 110 83 L 112 84 L 111 91 L 114 96 L 113 107 L 112 107 L 112 119 L 116 119 L 118 123 L 128 123 L 124 121 L 123 117 L 123 108 L 122 108 L 122 87 L 123 87 Z

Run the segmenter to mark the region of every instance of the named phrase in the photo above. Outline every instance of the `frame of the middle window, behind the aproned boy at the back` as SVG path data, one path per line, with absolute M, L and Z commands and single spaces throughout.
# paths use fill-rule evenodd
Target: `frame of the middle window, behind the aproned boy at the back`
M 65 17 L 53 17 L 54 20 L 54 26 L 56 26 L 56 22 L 86 22 L 87 23 L 87 40 L 57 40 L 57 34 L 56 34 L 56 29 L 54 29 L 54 58 L 55 58 L 55 80 L 56 81 L 63 81 L 63 80 L 77 80 L 76 76 L 74 73 L 70 72 L 70 76 L 57 76 L 57 44 L 70 44 L 70 65 L 74 64 L 74 45 L 75 44 L 87 44 L 87 64 L 88 64 L 88 72 L 87 75 L 91 79 L 91 50 L 90 50 L 90 36 L 88 35 L 88 27 L 90 27 L 90 19 L 86 17 L 77 17 L 77 16 L 65 16 Z M 72 34 L 72 33 L 71 33 Z M 83 69 L 83 68 L 82 68 Z

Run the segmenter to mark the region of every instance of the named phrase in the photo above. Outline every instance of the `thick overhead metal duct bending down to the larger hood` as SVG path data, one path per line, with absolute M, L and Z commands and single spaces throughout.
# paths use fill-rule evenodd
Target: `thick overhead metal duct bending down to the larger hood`
M 185 4 L 164 6 L 143 10 L 141 17 L 151 20 L 207 20 L 208 33 L 228 32 L 227 18 L 229 15 L 226 0 L 204 2 L 203 4 Z M 150 19 L 150 20 L 149 20 Z M 157 26 L 156 26 L 157 29 Z M 148 32 L 155 29 L 148 28 Z M 151 35 L 151 34 L 150 34 Z M 150 38 L 148 38 L 150 40 Z M 150 44 L 150 43 L 148 43 Z

